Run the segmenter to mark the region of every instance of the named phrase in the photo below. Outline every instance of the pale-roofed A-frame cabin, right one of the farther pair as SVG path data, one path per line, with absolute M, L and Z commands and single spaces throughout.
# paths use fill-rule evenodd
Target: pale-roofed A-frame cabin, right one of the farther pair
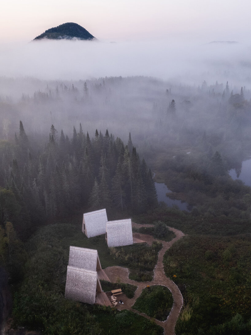
M 133 244 L 131 219 L 106 222 L 105 239 L 109 248 Z

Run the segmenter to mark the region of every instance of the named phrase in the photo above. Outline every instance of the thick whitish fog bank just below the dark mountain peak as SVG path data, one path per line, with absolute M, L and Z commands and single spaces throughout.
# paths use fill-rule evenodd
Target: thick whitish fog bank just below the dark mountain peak
M 178 40 L 134 42 L 32 41 L 0 49 L 0 73 L 46 80 L 153 76 L 182 84 L 250 84 L 250 46 Z

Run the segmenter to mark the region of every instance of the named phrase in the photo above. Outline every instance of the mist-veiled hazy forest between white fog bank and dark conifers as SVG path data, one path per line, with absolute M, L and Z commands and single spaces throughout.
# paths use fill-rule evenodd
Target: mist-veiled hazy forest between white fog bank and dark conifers
M 78 81 L 1 77 L 0 91 L 2 139 L 14 138 L 19 120 L 29 137 L 39 141 L 47 140 L 52 124 L 71 134 L 81 123 L 84 132 L 108 129 L 124 141 L 131 132 L 134 144 L 148 156 L 154 147 L 197 146 L 202 136 L 230 156 L 246 154 L 241 143 L 250 128 L 251 92 L 235 82 L 203 80 L 188 85 L 144 76 Z

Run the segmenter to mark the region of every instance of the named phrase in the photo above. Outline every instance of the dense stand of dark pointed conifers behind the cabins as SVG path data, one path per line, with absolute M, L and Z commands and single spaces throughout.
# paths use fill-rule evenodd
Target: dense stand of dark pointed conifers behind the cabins
M 106 208 L 142 213 L 158 204 L 151 170 L 129 136 L 124 146 L 106 131 L 72 139 L 52 125 L 45 147 L 29 141 L 20 121 L 15 144 L 0 141 L 0 224 L 27 238 L 48 220 Z M 127 213 L 127 214 L 125 214 Z

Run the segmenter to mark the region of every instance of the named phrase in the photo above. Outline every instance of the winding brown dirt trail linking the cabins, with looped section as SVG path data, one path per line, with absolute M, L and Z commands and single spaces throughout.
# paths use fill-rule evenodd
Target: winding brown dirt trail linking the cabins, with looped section
M 133 223 L 133 226 L 135 227 L 140 227 L 140 226 L 146 226 L 146 225 L 139 225 L 136 223 Z M 148 225 L 149 226 L 149 225 Z M 123 305 L 117 306 L 119 310 L 131 310 L 135 313 L 138 313 L 142 316 L 144 316 L 147 319 L 154 320 L 156 324 L 160 325 L 161 327 L 164 328 L 164 334 L 165 335 L 174 335 L 174 328 L 175 324 L 177 322 L 178 316 L 180 314 L 180 310 L 183 306 L 183 297 L 182 294 L 180 293 L 180 290 L 178 286 L 170 279 L 167 278 L 164 272 L 164 266 L 163 266 L 163 256 L 165 252 L 179 239 L 181 239 L 184 234 L 182 231 L 174 229 L 172 227 L 168 227 L 170 230 L 172 230 L 176 237 L 170 241 L 170 242 L 165 242 L 165 241 L 160 241 L 154 239 L 150 235 L 145 235 L 145 234 L 140 234 L 140 233 L 134 233 L 133 236 L 137 239 L 141 239 L 147 242 L 148 245 L 152 245 L 153 241 L 158 241 L 162 243 L 162 249 L 159 251 L 158 254 L 158 261 L 154 269 L 154 278 L 152 281 L 144 281 L 144 282 L 138 282 L 135 280 L 129 279 L 129 269 L 128 268 L 123 268 L 120 266 L 110 266 L 106 269 L 104 269 L 106 275 L 109 277 L 111 282 L 117 282 L 120 280 L 120 282 L 123 283 L 128 283 L 137 286 L 137 289 L 135 291 L 135 295 L 132 299 L 129 299 L 123 294 Z M 167 317 L 166 321 L 159 321 L 157 319 L 153 319 L 148 317 L 144 313 L 140 313 L 132 308 L 138 297 L 140 296 L 142 290 L 147 286 L 152 286 L 152 285 L 163 285 L 169 288 L 169 290 L 172 293 L 173 296 L 173 307 L 171 309 L 170 314 Z

